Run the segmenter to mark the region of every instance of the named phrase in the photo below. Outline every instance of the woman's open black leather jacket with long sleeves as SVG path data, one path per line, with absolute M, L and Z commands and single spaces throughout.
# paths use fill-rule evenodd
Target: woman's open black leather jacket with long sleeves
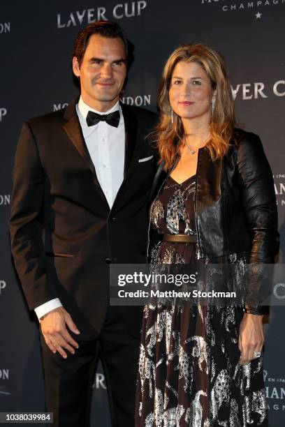
M 234 140 L 222 160 L 212 162 L 205 147 L 198 151 L 195 212 L 200 257 L 248 253 L 250 264 L 273 264 L 279 250 L 279 233 L 270 165 L 258 135 L 235 129 Z M 172 169 L 167 173 L 163 164 L 159 166 L 151 201 Z M 148 249 L 158 239 L 149 227 Z M 261 271 L 259 277 L 260 274 Z M 267 307 L 258 304 L 262 293 L 258 274 L 251 274 L 245 311 L 259 315 L 267 312 Z

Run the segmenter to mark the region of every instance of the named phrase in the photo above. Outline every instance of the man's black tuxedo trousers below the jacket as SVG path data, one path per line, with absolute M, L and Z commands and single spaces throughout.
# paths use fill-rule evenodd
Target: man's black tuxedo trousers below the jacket
M 41 334 L 45 405 L 57 427 L 89 427 L 92 384 L 99 355 L 108 387 L 112 427 L 133 427 L 140 341 L 130 336 L 120 307 L 109 307 L 99 336 L 75 340 L 80 345 L 67 359 L 53 354 Z M 99 351 L 100 350 L 100 351 Z M 102 427 L 100 421 L 93 421 Z

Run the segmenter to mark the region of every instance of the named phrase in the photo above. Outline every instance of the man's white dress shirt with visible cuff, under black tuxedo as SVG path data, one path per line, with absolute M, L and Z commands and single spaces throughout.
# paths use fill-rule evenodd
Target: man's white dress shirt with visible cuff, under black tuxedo
M 86 117 L 89 111 L 97 114 L 109 114 L 116 110 L 120 112 L 117 128 L 108 125 L 105 121 L 99 121 L 95 126 L 87 126 Z M 76 112 L 98 182 L 111 209 L 124 179 L 125 127 L 122 109 L 118 101 L 110 110 L 100 112 L 85 104 L 80 96 Z M 54 308 L 61 306 L 59 298 L 54 298 L 36 307 L 38 320 Z

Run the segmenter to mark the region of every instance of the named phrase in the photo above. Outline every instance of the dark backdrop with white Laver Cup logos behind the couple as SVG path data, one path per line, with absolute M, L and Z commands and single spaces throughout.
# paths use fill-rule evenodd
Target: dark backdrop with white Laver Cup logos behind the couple
M 24 303 L 10 257 L 11 170 L 22 122 L 65 107 L 78 89 L 71 52 L 89 22 L 114 20 L 134 46 L 122 100 L 156 110 L 163 64 L 177 45 L 204 42 L 228 64 L 240 126 L 260 135 L 275 179 L 284 263 L 285 0 L 1 1 L 0 6 L 0 412 L 44 410 L 38 325 Z M 285 297 L 285 280 L 275 296 Z M 270 426 L 285 425 L 285 310 L 265 324 L 264 378 Z M 92 426 L 110 426 L 101 364 Z

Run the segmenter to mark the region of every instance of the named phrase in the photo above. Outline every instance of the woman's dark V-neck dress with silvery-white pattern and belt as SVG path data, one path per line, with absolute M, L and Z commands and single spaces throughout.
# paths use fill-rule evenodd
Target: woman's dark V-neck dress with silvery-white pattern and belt
M 168 177 L 152 204 L 159 234 L 196 234 L 196 176 L 181 184 Z M 209 262 L 196 244 L 160 242 L 152 265 Z M 210 262 L 217 262 L 211 259 Z M 245 263 L 240 254 L 219 262 Z M 144 308 L 136 395 L 136 427 L 267 426 L 262 357 L 238 360 L 242 308 L 163 304 Z

